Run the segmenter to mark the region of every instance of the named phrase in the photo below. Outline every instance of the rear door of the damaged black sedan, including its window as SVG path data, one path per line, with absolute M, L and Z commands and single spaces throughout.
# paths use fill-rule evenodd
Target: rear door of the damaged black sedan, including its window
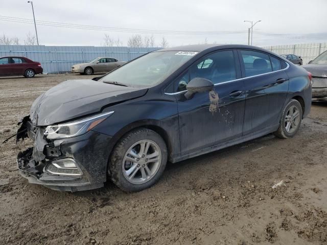
M 269 131 L 279 124 L 288 93 L 288 64 L 253 50 L 239 50 L 239 56 L 246 93 L 243 134 Z

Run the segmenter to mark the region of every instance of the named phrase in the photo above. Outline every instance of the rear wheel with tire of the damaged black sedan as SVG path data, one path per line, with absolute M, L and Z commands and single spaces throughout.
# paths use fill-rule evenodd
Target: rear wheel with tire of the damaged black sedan
M 303 111 L 301 104 L 292 99 L 284 108 L 281 122 L 274 135 L 278 138 L 287 139 L 293 137 L 302 121 Z

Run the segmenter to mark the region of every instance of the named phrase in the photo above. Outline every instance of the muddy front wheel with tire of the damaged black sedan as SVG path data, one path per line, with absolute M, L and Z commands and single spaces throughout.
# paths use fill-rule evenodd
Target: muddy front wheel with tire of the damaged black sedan
M 167 164 L 167 146 L 156 132 L 139 128 L 116 144 L 109 159 L 112 182 L 125 191 L 149 188 L 161 177 Z

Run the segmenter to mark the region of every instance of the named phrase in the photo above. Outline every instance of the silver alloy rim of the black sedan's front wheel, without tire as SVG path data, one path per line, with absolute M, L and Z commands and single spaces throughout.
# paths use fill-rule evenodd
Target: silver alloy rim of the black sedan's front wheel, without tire
M 123 175 L 132 184 L 144 184 L 155 176 L 160 164 L 159 146 L 152 140 L 139 140 L 124 156 Z

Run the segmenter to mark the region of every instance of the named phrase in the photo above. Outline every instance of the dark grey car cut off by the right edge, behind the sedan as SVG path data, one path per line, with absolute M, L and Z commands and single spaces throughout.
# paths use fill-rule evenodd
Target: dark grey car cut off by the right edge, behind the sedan
M 327 51 L 303 65 L 303 68 L 312 74 L 312 100 L 327 101 Z

